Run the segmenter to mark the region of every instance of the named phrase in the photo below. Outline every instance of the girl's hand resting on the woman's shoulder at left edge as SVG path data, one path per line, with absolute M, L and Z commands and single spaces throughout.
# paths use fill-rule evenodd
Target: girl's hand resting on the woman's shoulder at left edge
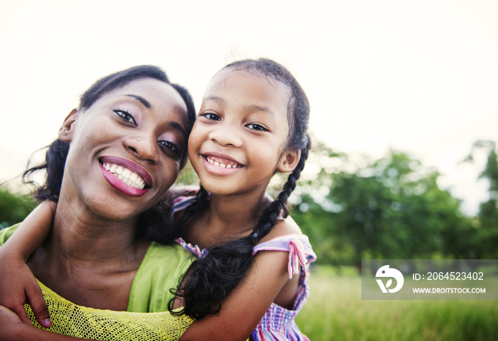
M 0 264 L 0 305 L 14 311 L 22 322 L 31 325 L 24 309 L 24 304 L 28 303 L 38 323 L 50 328 L 52 322 L 47 304 L 35 276 L 25 261 L 19 256 L 4 252 L 0 253 Z

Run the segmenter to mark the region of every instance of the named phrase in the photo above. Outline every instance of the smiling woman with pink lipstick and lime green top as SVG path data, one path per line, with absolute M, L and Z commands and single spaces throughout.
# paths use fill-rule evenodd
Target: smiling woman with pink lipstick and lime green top
M 83 94 L 46 163 L 26 172 L 46 169 L 36 196 L 57 202 L 51 234 L 27 262 L 41 283 L 90 308 L 167 310 L 189 253 L 150 241 L 176 237 L 158 203 L 186 163 L 194 121 L 189 93 L 154 66 L 108 75 Z

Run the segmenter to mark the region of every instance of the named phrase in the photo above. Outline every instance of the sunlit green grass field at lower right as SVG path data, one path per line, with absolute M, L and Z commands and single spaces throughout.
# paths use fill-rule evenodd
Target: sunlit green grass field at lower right
M 361 276 L 312 271 L 297 325 L 320 340 L 498 340 L 498 301 L 361 300 Z

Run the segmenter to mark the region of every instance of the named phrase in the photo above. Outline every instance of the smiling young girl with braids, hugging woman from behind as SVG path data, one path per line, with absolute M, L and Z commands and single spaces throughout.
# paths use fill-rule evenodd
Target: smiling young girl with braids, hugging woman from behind
M 172 209 L 178 242 L 198 256 L 170 303 L 198 318 L 180 340 L 251 331 L 253 340 L 307 340 L 294 319 L 315 255 L 287 217 L 287 198 L 308 155 L 308 117 L 304 91 L 271 60 L 232 63 L 208 85 L 189 138 L 201 189 Z M 265 190 L 279 172 L 290 175 L 271 200 Z

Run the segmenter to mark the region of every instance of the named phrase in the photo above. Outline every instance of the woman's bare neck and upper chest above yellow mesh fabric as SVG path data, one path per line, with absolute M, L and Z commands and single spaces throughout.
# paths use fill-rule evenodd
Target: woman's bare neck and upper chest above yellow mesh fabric
M 28 266 L 73 303 L 126 310 L 132 281 L 149 242 L 137 241 L 137 219 L 111 222 L 59 201 L 48 239 Z

